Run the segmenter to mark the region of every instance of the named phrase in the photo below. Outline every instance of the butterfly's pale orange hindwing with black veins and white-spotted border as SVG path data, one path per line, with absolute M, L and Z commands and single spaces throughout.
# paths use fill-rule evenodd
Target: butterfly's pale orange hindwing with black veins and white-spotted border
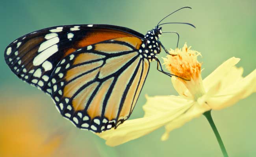
M 141 39 L 121 37 L 64 57 L 51 75 L 52 99 L 78 128 L 101 132 L 128 119 L 147 77 Z

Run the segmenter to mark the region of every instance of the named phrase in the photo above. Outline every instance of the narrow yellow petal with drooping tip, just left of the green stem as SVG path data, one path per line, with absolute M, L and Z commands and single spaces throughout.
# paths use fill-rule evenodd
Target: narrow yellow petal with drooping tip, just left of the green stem
M 201 98 L 199 98 L 201 99 Z M 203 100 L 201 100 L 204 102 Z M 198 102 L 194 102 L 193 105 L 186 111 L 186 113 L 181 114 L 176 119 L 169 122 L 165 125 L 165 133 L 162 135 L 161 140 L 165 141 L 169 138 L 169 132 L 183 126 L 186 122 L 189 122 L 191 119 L 199 117 L 204 112 L 211 110 L 211 108 L 205 103 L 199 104 Z

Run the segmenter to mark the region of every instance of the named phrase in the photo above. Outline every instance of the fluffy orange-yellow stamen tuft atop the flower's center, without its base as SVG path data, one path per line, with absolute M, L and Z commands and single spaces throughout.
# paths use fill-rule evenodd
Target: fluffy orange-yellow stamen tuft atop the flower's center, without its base
M 171 55 L 167 55 L 163 58 L 165 67 L 176 75 L 180 80 L 197 80 L 201 75 L 201 65 L 198 62 L 197 57 L 201 55 L 198 51 L 191 50 L 191 46 L 187 47 L 187 43 L 179 49 L 171 49 L 169 51 Z

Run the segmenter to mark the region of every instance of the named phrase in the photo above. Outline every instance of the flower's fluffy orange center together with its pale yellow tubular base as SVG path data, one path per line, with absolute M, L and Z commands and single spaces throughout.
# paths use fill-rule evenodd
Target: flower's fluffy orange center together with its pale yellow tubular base
M 172 55 L 167 55 L 163 60 L 165 67 L 171 74 L 178 76 L 177 79 L 186 86 L 193 99 L 197 100 L 205 93 L 201 77 L 202 63 L 197 60 L 197 56 L 201 54 L 190 48 L 185 43 L 182 49 L 171 49 L 169 53 Z

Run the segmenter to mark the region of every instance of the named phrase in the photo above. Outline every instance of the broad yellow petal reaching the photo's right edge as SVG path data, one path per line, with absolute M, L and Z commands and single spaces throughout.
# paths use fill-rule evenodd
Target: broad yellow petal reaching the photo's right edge
M 244 99 L 250 94 L 256 92 L 256 70 L 252 71 L 252 73 L 247 75 L 245 78 L 235 75 L 234 71 L 239 70 L 241 71 L 241 69 L 237 69 L 236 67 L 230 69 L 230 74 L 225 78 L 233 76 L 238 79 L 231 79 L 228 83 L 227 80 L 223 79 L 223 82 L 221 82 L 223 86 L 225 85 L 224 83 L 228 86 L 219 90 L 217 95 L 214 95 L 214 97 L 210 97 L 207 100 L 209 106 L 211 106 L 213 110 L 220 110 L 231 106 L 240 99 Z

